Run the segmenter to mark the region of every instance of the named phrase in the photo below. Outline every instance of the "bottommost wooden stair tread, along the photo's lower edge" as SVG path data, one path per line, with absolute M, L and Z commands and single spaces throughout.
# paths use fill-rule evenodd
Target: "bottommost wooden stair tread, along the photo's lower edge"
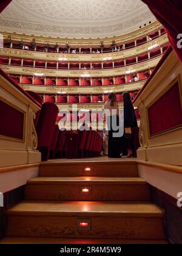
M 5 237 L 0 244 L 167 244 L 165 240 Z

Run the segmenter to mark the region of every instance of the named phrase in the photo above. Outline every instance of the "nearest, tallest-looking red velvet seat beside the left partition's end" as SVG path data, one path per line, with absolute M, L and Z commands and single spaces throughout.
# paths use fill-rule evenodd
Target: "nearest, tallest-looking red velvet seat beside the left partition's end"
M 44 103 L 37 125 L 38 150 L 42 153 L 42 161 L 49 157 L 50 144 L 55 129 L 58 107 L 53 103 Z

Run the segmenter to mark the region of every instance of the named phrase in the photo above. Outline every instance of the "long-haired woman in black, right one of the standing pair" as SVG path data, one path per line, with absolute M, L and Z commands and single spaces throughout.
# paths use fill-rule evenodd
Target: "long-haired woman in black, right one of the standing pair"
M 127 157 L 133 157 L 132 128 L 138 127 L 135 110 L 129 93 L 123 93 L 124 102 L 124 137 L 126 138 Z

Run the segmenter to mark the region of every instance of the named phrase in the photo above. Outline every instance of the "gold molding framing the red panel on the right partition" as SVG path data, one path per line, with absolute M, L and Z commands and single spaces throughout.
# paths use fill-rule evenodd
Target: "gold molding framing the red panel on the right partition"
M 150 133 L 150 126 L 149 126 L 149 108 L 152 107 L 153 104 L 155 104 L 155 102 L 157 102 L 161 97 L 164 96 L 165 93 L 167 93 L 167 91 L 170 90 L 170 88 L 174 87 L 175 84 L 178 83 L 178 88 L 179 88 L 179 91 L 180 91 L 180 99 L 181 99 L 181 109 L 182 109 L 182 93 L 181 93 L 181 76 L 180 74 L 178 74 L 177 77 L 175 77 L 174 80 L 172 80 L 172 82 L 170 82 L 169 85 L 166 86 L 166 88 L 164 88 L 163 91 L 161 91 L 160 94 L 158 94 L 158 96 L 153 99 L 153 101 L 150 102 L 149 105 L 146 106 L 146 117 L 147 117 L 147 133 L 148 133 L 148 138 L 151 139 L 151 138 L 155 138 L 155 137 L 158 137 L 160 135 L 163 135 L 163 134 L 166 134 L 166 133 L 169 133 L 169 132 L 174 132 L 175 130 L 178 130 L 178 129 L 181 129 L 182 127 L 182 124 L 180 126 L 177 126 L 177 127 L 173 127 L 172 129 L 167 129 L 163 132 L 159 132 L 155 135 L 151 135 Z

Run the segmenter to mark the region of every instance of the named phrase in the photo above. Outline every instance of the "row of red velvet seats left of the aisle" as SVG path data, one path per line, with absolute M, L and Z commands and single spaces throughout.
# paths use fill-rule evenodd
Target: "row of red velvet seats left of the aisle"
M 52 102 L 43 104 L 42 98 L 33 91 L 27 91 L 33 99 L 42 105 L 36 113 L 35 127 L 38 135 L 38 150 L 42 161 L 48 158 L 96 157 L 102 151 L 103 140 L 92 130 L 68 132 L 59 130 L 56 125 L 58 107 Z M 92 143 L 91 143 L 92 142 Z

